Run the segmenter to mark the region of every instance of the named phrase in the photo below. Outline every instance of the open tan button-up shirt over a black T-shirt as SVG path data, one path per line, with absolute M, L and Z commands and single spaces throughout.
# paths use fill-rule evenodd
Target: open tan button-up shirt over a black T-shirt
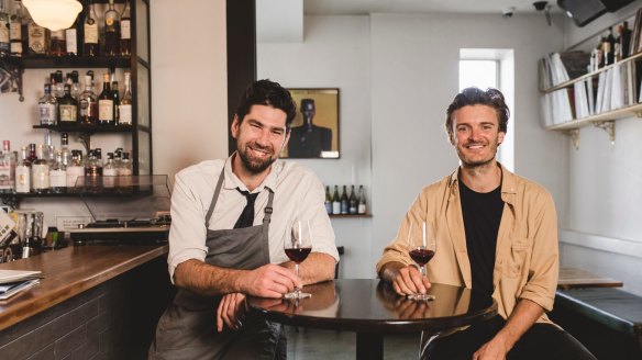
M 528 299 L 545 311 L 553 308 L 558 273 L 557 217 L 549 192 L 501 167 L 501 199 L 506 203 L 497 235 L 492 297 L 505 319 L 518 301 Z M 422 189 L 395 239 L 384 249 L 377 273 L 390 261 L 414 262 L 408 255 L 410 223 L 428 222 L 436 235 L 436 254 L 427 266 L 431 282 L 471 288 L 473 278 L 457 171 Z M 417 226 L 417 225 L 414 225 Z M 542 315 L 539 323 L 550 323 Z

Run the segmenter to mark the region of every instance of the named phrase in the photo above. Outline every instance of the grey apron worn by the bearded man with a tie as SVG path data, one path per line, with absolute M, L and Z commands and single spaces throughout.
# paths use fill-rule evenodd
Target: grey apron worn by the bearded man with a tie
M 206 215 L 206 262 L 243 270 L 269 263 L 267 235 L 274 192 L 269 191 L 262 225 L 210 230 L 210 217 L 223 179 L 224 170 L 219 176 Z M 217 308 L 220 301 L 221 296 L 207 297 L 179 289 L 173 304 L 158 320 L 156 337 L 150 348 L 150 359 L 274 359 L 277 344 L 285 340 L 283 327 L 247 316 L 241 329 L 231 330 L 225 327 L 222 333 L 218 333 Z

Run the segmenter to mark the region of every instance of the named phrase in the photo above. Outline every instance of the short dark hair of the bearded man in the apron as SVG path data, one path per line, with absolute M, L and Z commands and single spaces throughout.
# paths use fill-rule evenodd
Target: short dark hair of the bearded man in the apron
M 239 116 L 239 123 L 243 122 L 243 117 L 250 113 L 252 105 L 266 105 L 283 110 L 286 113 L 286 128 L 288 131 L 297 115 L 297 104 L 290 92 L 278 82 L 268 79 L 256 80 L 245 89 L 235 112 Z

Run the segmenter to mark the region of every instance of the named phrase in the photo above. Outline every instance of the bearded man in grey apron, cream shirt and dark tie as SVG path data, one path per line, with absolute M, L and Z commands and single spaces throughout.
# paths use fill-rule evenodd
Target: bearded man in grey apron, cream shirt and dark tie
M 236 151 L 176 176 L 167 261 L 178 292 L 150 359 L 285 359 L 281 326 L 245 317 L 245 295 L 279 299 L 334 277 L 339 254 L 323 185 L 311 171 L 278 161 L 295 114 L 286 89 L 253 82 L 231 126 Z M 295 220 L 309 221 L 314 234 L 298 277 L 284 251 Z

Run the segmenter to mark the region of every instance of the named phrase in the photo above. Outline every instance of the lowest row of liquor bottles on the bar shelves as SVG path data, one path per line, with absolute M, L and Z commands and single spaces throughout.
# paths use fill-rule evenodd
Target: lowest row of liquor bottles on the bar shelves
M 131 177 L 130 153 L 117 148 L 102 159 L 102 149 L 90 149 L 86 156 L 68 148 L 68 135 L 62 136 L 59 150 L 51 144 L 30 144 L 21 148 L 21 155 L 11 151 L 9 140 L 2 142 L 0 153 L 0 194 L 70 193 L 78 178 L 84 184 L 101 183 L 102 188 L 126 184 Z M 100 178 L 100 181 L 98 180 Z

